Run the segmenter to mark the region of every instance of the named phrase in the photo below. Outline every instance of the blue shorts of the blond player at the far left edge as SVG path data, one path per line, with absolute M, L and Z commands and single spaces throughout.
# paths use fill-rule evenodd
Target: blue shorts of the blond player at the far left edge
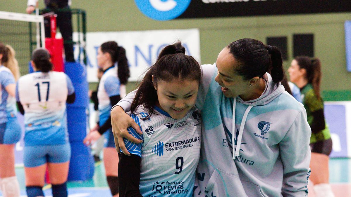
M 7 116 L 2 144 L 15 144 L 21 139 L 22 128 L 16 116 Z

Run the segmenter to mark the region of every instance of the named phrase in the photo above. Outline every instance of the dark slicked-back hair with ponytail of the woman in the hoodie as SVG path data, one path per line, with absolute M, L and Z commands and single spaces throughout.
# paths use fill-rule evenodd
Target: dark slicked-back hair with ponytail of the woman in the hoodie
M 239 61 L 240 65 L 234 69 L 244 80 L 262 77 L 266 72 L 271 74 L 274 83 L 283 80 L 282 53 L 277 47 L 245 38 L 230 43 L 227 48 Z

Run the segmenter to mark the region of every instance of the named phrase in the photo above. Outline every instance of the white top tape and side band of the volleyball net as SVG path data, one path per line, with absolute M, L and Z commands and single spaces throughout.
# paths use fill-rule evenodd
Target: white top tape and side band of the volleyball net
M 39 13 L 39 11 L 36 13 Z M 0 11 L 0 19 L 37 23 L 37 48 L 45 48 L 44 16 Z

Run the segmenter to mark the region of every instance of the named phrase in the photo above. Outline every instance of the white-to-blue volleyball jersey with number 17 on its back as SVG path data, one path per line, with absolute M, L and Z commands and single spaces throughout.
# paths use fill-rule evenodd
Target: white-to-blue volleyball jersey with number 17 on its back
M 66 100 L 73 93 L 71 80 L 62 72 L 34 72 L 20 77 L 16 100 L 25 111 L 25 145 L 68 142 Z

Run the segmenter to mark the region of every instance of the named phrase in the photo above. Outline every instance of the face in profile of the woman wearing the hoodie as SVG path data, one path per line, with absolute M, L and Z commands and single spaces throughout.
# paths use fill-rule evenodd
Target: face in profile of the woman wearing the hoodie
M 230 53 L 229 48 L 224 48 L 218 55 L 216 66 L 218 74 L 216 82 L 222 87 L 225 97 L 237 97 L 245 94 L 250 85 L 250 80 L 244 80 L 242 76 L 234 72 L 239 62 Z

